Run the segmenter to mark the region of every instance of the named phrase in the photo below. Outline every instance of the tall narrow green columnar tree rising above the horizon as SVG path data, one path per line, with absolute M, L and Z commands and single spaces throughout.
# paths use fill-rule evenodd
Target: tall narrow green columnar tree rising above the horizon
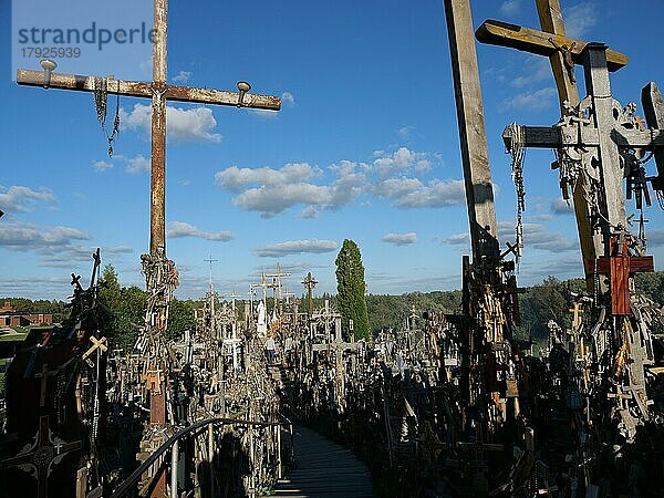
M 366 312 L 366 283 L 364 266 L 357 245 L 349 239 L 336 257 L 336 305 L 342 317 L 344 340 L 351 338 L 349 321 L 353 321 L 355 339 L 369 339 L 369 314 Z

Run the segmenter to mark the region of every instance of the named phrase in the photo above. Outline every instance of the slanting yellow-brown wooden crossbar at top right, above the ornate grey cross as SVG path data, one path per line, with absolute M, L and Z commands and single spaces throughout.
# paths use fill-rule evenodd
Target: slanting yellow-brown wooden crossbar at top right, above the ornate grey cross
M 588 44 L 581 40 L 574 40 L 560 34 L 544 33 L 543 31 L 523 28 L 517 24 L 495 21 L 489 19 L 481 23 L 475 32 L 475 38 L 481 43 L 491 45 L 509 46 L 538 55 L 551 56 L 558 49 L 553 45 L 566 45 L 575 64 L 582 64 L 581 52 Z M 553 43 L 549 40 L 553 40 Z M 606 66 L 609 71 L 618 71 L 627 65 L 630 59 L 615 50 L 606 50 Z

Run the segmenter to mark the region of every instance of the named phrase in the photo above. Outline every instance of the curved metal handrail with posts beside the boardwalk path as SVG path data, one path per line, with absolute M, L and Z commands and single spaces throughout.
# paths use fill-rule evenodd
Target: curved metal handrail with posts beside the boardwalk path
M 288 427 L 290 435 L 290 459 L 294 458 L 294 436 L 293 436 L 293 424 L 290 419 L 280 415 L 282 422 L 253 422 L 238 418 L 225 418 L 214 417 L 198 421 L 187 427 L 180 428 L 173 436 L 170 436 L 162 446 L 153 452 L 111 494 L 111 498 L 122 498 L 132 496 L 132 491 L 135 491 L 136 486 L 142 480 L 143 475 L 153 469 L 147 489 L 153 489 L 157 480 L 162 477 L 163 473 L 166 471 L 166 456 L 170 454 L 170 496 L 177 498 L 178 495 L 178 461 L 179 461 L 179 443 L 189 437 L 197 436 L 199 432 L 208 429 L 209 444 L 212 446 L 214 436 L 212 432 L 215 427 L 224 427 L 226 425 L 246 425 L 251 427 L 279 427 L 277 430 L 277 477 L 282 478 L 283 474 L 283 461 L 281 458 L 281 427 Z M 253 448 L 251 448 L 253 449 Z M 211 452 L 211 449 L 210 449 Z M 155 469 L 156 467 L 156 469 Z M 253 469 L 252 469 L 253 471 Z

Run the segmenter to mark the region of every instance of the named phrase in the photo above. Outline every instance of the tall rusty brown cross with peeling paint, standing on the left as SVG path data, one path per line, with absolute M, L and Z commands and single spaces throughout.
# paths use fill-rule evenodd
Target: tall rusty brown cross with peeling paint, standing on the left
M 143 98 L 152 98 L 152 152 L 151 152 L 151 255 L 166 253 L 165 187 L 166 187 L 166 102 L 190 102 L 232 105 L 270 111 L 281 108 L 281 100 L 269 95 L 247 94 L 247 83 L 238 84 L 238 92 L 175 86 L 166 83 L 166 17 L 167 0 L 154 0 L 154 42 L 152 83 L 124 81 L 108 77 L 107 92 Z M 50 76 L 50 82 L 48 77 Z M 50 86 L 82 92 L 95 91 L 94 76 L 44 73 L 18 70 L 17 83 L 30 86 Z

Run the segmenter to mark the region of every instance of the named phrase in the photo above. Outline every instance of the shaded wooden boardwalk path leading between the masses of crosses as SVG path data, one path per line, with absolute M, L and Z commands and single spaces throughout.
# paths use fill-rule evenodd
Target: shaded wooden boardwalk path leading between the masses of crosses
M 295 468 L 274 496 L 289 498 L 373 498 L 366 466 L 350 449 L 305 427 L 295 427 Z

